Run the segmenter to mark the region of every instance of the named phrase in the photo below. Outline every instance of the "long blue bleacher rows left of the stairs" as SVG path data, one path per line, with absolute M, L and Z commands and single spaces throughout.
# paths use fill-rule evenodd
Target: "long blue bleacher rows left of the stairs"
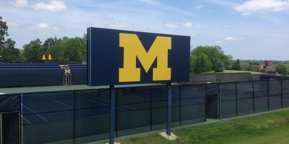
M 0 63 L 0 69 L 61 69 L 59 64 L 15 64 Z

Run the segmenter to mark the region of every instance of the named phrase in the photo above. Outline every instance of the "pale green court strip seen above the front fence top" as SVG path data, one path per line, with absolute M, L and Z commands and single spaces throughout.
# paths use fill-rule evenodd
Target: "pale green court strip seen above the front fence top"
M 154 84 L 134 84 L 134 85 L 116 85 L 115 87 L 128 86 L 151 86 Z M 0 93 L 16 93 L 29 91 L 56 91 L 56 90 L 82 90 L 82 89 L 96 89 L 109 88 L 109 86 L 86 86 L 86 85 L 72 85 L 72 86 L 37 86 L 37 87 L 16 87 L 16 88 L 0 88 Z

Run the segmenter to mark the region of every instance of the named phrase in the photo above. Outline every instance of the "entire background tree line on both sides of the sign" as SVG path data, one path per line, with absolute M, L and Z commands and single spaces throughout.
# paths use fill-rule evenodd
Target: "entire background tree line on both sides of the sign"
M 46 57 L 51 54 L 52 60 L 56 61 L 86 61 L 86 34 L 74 38 L 50 37 L 43 44 L 38 38 L 24 44 L 23 49 L 15 48 L 15 41 L 11 38 L 5 40 L 8 36 L 7 23 L 0 16 L 0 56 L 6 60 L 42 60 L 43 54 Z M 249 62 L 265 64 L 265 60 L 232 60 L 232 58 L 231 55 L 225 55 L 220 46 L 197 46 L 190 52 L 190 72 L 241 70 L 240 64 Z M 285 70 L 289 69 L 289 61 L 273 61 L 273 64 L 275 63 L 276 72 L 285 73 Z M 250 66 L 245 70 L 254 71 Z M 260 72 L 266 72 L 265 70 L 261 69 Z

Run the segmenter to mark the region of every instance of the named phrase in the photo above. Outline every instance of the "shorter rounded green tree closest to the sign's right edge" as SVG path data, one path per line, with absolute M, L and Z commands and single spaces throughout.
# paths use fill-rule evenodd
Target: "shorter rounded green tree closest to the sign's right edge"
M 200 56 L 197 56 L 195 58 L 193 67 L 193 72 L 198 74 L 201 72 L 209 71 L 212 67 L 212 63 L 209 57 L 206 54 L 202 53 Z

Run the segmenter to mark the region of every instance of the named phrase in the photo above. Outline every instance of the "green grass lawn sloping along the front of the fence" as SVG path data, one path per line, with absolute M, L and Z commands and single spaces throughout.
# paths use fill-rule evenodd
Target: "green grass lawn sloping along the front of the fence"
M 257 116 L 172 130 L 178 137 L 167 140 L 159 134 L 119 140 L 121 144 L 143 143 L 288 143 L 289 109 Z

